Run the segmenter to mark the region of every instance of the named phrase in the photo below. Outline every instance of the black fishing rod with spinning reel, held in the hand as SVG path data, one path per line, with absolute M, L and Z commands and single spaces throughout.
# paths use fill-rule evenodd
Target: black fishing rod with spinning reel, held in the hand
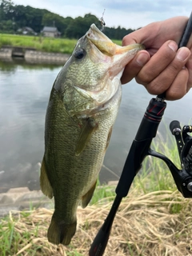
M 181 41 L 178 44 L 178 48 L 187 45 L 190 34 L 192 34 L 192 12 Z M 178 145 L 182 170 L 178 170 L 174 163 L 171 162 L 169 158 L 166 158 L 165 155 L 150 149 L 150 144 L 157 134 L 159 123 L 166 109 L 166 102 L 164 101 L 165 96 L 166 92 L 159 94 L 156 98 L 152 98 L 149 106 L 146 108 L 146 112 L 142 118 L 134 141 L 130 146 L 129 154 L 118 181 L 114 203 L 111 206 L 105 222 L 94 238 L 94 242 L 90 247 L 89 256 L 102 256 L 104 253 L 118 206 L 122 202 L 122 198 L 126 197 L 128 194 L 134 177 L 138 173 L 138 170 L 141 169 L 142 161 L 147 155 L 161 158 L 166 162 L 178 190 L 185 198 L 192 198 L 192 138 L 188 134 L 192 132 L 192 126 L 184 126 L 183 129 L 181 129 L 178 121 L 170 123 L 171 133 L 174 135 Z

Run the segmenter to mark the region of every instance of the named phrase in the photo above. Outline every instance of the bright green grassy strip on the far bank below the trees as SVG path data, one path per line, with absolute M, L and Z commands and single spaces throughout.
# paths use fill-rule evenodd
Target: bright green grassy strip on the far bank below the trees
M 16 34 L 0 34 L 0 48 L 2 46 L 33 47 L 37 50 L 61 54 L 71 54 L 77 40 L 67 38 L 43 38 L 37 36 L 23 36 Z M 120 41 L 115 41 L 121 45 Z

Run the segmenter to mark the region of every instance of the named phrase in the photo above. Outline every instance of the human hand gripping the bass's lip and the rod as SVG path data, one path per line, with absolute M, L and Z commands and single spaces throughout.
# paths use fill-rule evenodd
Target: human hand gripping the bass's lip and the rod
M 122 84 L 135 78 L 150 94 L 166 91 L 168 100 L 182 98 L 192 87 L 192 36 L 187 47 L 178 49 L 187 21 L 187 17 L 170 18 L 126 35 L 122 46 L 137 42 L 146 50 L 128 63 Z

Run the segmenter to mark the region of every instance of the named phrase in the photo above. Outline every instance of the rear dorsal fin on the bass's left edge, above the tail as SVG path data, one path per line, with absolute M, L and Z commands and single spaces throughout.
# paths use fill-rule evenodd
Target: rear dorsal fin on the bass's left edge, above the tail
M 53 192 L 52 186 L 50 185 L 49 178 L 47 177 L 47 174 L 46 174 L 45 156 L 42 159 L 40 186 L 43 194 L 45 194 L 48 198 L 53 198 L 54 192 Z

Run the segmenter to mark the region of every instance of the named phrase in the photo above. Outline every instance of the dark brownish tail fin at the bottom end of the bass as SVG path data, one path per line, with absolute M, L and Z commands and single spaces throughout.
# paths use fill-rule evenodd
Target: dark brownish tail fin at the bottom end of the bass
M 55 245 L 58 245 L 59 243 L 62 243 L 64 246 L 69 245 L 71 238 L 73 238 L 75 234 L 76 226 L 77 221 L 71 224 L 57 222 L 57 218 L 53 215 L 47 232 L 48 241 Z

